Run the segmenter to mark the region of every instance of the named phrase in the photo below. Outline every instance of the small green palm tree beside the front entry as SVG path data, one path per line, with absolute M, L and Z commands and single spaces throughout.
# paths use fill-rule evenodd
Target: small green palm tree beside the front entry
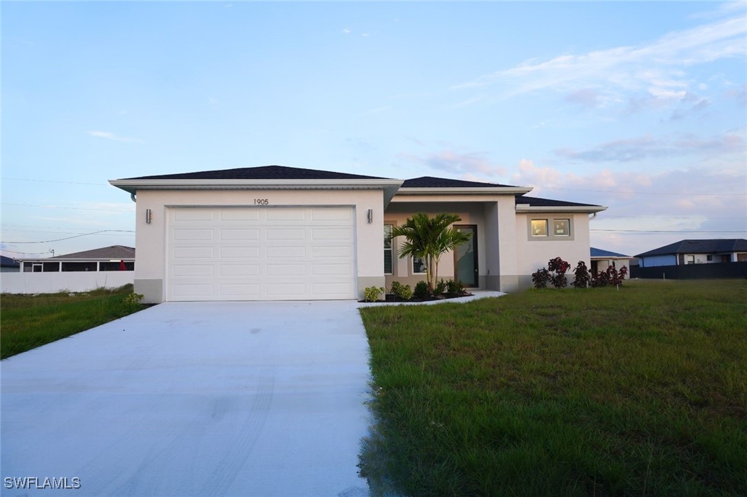
M 427 213 L 418 212 L 412 215 L 412 219 L 407 219 L 403 225 L 391 230 L 392 238 L 407 239 L 400 247 L 400 259 L 411 255 L 425 261 L 430 293 L 433 293 L 434 284 L 438 281 L 438 261 L 441 254 L 470 240 L 471 233 L 462 233 L 450 227 L 461 220 L 456 214 L 442 212 L 430 217 Z

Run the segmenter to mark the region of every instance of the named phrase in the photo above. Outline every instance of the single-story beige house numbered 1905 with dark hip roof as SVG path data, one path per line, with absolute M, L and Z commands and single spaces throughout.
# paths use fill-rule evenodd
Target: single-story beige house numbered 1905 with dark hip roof
M 553 257 L 589 263 L 589 219 L 607 207 L 448 178 L 406 181 L 285 166 L 111 180 L 137 202 L 134 284 L 146 302 L 362 298 L 425 278 L 388 239 L 413 213 L 456 213 L 468 246 L 439 275 L 512 291 Z M 591 216 L 591 218 L 590 218 Z

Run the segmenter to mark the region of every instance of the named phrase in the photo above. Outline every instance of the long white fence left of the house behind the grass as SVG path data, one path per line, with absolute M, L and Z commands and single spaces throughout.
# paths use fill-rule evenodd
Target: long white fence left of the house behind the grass
M 96 288 L 117 288 L 134 282 L 134 271 L 4 272 L 2 293 L 87 292 Z

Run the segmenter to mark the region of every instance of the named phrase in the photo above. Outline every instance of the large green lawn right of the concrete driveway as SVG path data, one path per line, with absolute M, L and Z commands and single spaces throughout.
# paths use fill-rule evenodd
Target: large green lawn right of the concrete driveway
M 747 495 L 747 281 L 361 313 L 374 493 Z

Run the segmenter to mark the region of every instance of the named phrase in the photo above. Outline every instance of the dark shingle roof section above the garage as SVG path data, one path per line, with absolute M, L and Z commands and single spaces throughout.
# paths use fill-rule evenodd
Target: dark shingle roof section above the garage
M 240 167 L 238 169 L 219 169 L 217 171 L 184 172 L 176 175 L 140 176 L 139 179 L 222 179 L 222 180 L 299 180 L 299 179 L 386 179 L 377 176 L 351 175 L 347 172 L 318 171 L 286 166 Z

